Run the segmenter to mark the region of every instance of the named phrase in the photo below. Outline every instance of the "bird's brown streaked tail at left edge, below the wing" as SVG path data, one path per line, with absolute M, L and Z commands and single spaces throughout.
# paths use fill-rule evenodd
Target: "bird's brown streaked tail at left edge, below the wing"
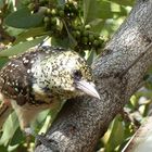
M 0 129 L 2 128 L 5 119 L 12 112 L 12 106 L 5 104 L 4 102 L 0 104 Z

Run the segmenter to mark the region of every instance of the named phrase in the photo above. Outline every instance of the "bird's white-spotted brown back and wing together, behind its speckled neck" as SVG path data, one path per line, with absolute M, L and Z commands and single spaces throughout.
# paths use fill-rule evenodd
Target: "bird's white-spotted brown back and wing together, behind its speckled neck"
M 16 100 L 17 104 L 33 102 L 30 68 L 38 58 L 45 56 L 43 49 L 29 51 L 12 58 L 0 71 L 0 92 L 8 99 Z

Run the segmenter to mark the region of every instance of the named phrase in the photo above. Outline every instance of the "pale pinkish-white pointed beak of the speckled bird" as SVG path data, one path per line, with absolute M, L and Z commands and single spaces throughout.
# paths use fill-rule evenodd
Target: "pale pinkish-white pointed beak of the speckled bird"
M 96 86 L 93 83 L 88 83 L 86 80 L 78 80 L 76 81 L 76 88 L 87 93 L 88 96 L 100 99 L 100 96 L 98 91 L 96 90 Z

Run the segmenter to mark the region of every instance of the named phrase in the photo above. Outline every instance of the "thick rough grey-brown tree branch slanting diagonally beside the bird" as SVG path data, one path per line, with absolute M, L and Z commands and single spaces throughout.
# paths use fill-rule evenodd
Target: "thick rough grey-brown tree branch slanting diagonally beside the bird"
M 93 152 L 109 124 L 143 83 L 152 64 L 152 0 L 137 0 L 93 65 L 101 100 L 66 102 L 47 132 L 60 152 Z M 51 150 L 39 144 L 36 152 Z

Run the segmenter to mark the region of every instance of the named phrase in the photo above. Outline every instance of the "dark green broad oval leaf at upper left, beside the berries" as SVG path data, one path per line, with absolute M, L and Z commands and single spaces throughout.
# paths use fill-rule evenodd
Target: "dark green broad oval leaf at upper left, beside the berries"
M 30 14 L 27 8 L 23 8 L 8 15 L 4 23 L 16 28 L 30 28 L 38 26 L 42 22 L 42 14 Z

